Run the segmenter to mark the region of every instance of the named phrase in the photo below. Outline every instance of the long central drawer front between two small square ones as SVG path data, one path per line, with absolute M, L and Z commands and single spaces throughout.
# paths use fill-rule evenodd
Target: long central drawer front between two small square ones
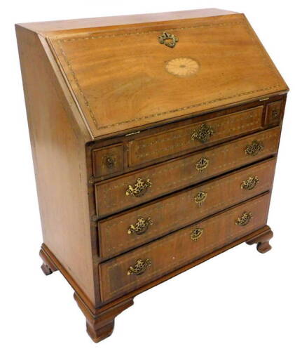
M 200 149 L 235 135 L 257 131 L 262 126 L 262 110 L 263 106 L 254 107 L 132 140 L 128 143 L 129 166 Z

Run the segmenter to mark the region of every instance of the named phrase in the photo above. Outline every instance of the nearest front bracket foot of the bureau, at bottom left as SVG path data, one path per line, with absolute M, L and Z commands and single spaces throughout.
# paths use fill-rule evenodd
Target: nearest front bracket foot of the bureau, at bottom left
M 111 336 L 114 330 L 115 317 L 133 305 L 133 298 L 130 298 L 108 309 L 106 307 L 99 308 L 95 310 L 95 313 L 92 313 L 76 293 L 74 293 L 74 299 L 86 317 L 87 333 L 95 343 Z

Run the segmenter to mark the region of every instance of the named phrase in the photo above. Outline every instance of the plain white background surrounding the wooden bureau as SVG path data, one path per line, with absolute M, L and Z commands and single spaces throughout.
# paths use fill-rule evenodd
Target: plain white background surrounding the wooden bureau
M 301 350 L 301 8 L 299 1 L 5 1 L 1 4 L 0 349 Z M 224 8 L 243 12 L 291 88 L 265 255 L 242 244 L 135 298 L 94 344 L 60 273 L 40 270 L 41 225 L 13 24 Z M 256 72 L 255 72 L 256 74 Z

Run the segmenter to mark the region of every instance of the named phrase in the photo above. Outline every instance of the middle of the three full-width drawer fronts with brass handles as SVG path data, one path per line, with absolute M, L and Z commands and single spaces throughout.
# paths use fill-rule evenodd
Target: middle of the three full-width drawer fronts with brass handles
M 270 159 L 99 221 L 102 260 L 269 190 L 274 171 Z

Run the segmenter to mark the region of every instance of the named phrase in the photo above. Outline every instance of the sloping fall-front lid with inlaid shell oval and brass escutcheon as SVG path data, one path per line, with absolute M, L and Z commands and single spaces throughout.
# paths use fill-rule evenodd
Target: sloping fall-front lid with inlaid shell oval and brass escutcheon
M 48 40 L 95 138 L 287 90 L 242 14 Z

